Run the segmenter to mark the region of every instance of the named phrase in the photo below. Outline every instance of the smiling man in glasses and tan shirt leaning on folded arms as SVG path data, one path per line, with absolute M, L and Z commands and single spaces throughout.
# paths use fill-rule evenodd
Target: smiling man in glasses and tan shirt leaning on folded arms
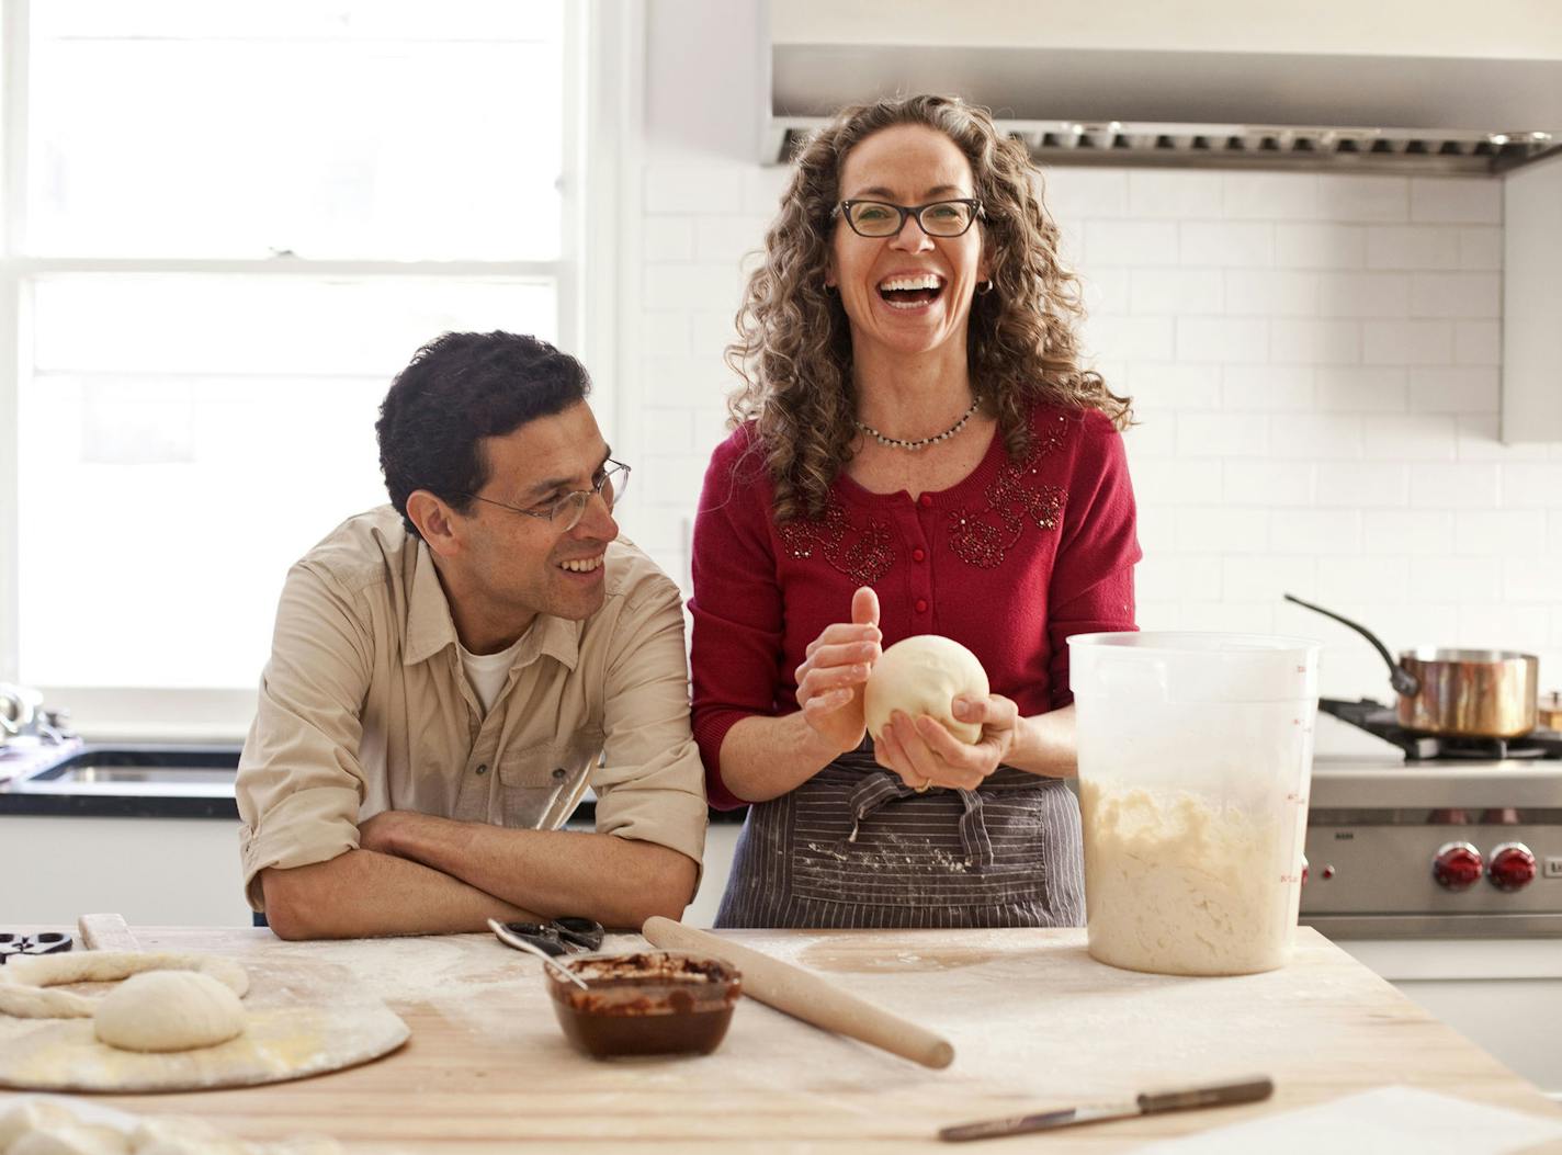
M 447 333 L 390 386 L 390 505 L 289 572 L 239 763 L 245 891 L 283 938 L 639 927 L 692 897 L 683 608 L 615 541 L 629 469 L 589 388 L 509 333 Z M 597 833 L 559 830 L 587 785 Z

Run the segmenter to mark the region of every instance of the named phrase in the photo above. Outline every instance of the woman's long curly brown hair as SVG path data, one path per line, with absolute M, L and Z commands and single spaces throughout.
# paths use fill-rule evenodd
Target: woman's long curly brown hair
M 1059 230 L 1042 206 L 1025 147 L 1003 136 L 986 109 L 958 97 L 914 95 L 843 108 L 797 155 L 781 213 L 765 233 L 764 263 L 737 311 L 726 363 L 744 386 L 728 399 L 731 425 L 756 422 L 775 486 L 775 519 L 817 519 L 856 441 L 851 328 L 825 274 L 840 167 L 865 138 L 895 125 L 948 136 L 972 166 L 982 205 L 992 291 L 972 302 L 967 353 L 972 388 L 997 416 L 1012 459 L 1029 449 L 1036 400 L 1101 409 L 1118 428 L 1129 399 L 1079 367 L 1075 325 L 1079 283 L 1057 263 Z

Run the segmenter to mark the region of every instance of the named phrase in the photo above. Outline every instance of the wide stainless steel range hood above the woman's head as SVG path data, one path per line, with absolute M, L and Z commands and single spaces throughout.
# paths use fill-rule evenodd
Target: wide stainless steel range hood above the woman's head
M 1378 5 L 776 0 L 764 159 L 843 103 L 923 91 L 1051 164 L 1495 173 L 1562 145 L 1562 6 Z M 1395 8 L 1415 30 L 1371 22 Z

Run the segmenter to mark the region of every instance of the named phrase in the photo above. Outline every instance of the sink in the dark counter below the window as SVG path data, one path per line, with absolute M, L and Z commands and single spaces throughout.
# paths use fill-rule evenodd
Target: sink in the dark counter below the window
M 231 799 L 239 746 L 77 746 L 9 794 Z

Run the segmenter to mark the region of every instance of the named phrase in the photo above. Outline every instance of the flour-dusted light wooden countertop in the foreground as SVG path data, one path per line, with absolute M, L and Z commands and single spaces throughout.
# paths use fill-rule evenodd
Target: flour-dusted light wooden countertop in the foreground
M 267 930 L 133 930 L 148 950 L 345 966 L 412 1028 L 397 1053 L 337 1074 L 95 1099 L 203 1116 L 247 1139 L 312 1130 L 366 1153 L 948 1152 L 933 1138 L 945 1124 L 1253 1074 L 1275 1080 L 1267 1103 L 998 1139 L 992 1150 L 1129 1150 L 1389 1083 L 1562 1117 L 1311 928 L 1289 967 L 1239 978 L 1117 971 L 1089 958 L 1082 930 L 728 932 L 945 1033 L 958 1052 L 947 1071 L 750 999 L 714 1055 L 597 1063 L 564 1042 L 540 964 L 483 935 L 283 942 Z

